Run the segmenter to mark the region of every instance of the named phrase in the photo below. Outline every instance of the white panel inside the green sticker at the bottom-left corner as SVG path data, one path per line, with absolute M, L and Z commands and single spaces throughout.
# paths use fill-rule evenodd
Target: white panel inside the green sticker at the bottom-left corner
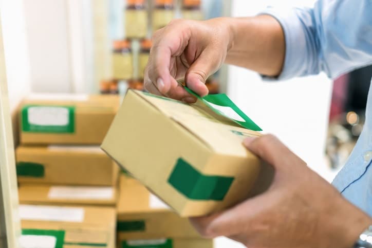
M 47 235 L 21 235 L 21 248 L 55 248 L 57 238 Z

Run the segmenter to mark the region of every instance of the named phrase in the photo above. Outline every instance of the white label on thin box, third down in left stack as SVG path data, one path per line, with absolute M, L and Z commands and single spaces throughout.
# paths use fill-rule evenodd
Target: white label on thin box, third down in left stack
M 110 200 L 114 196 L 114 187 L 89 186 L 52 186 L 49 189 L 49 199 L 68 200 Z

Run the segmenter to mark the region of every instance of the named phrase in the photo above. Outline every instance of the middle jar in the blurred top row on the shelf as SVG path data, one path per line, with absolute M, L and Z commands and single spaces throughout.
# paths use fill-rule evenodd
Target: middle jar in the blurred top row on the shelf
M 173 0 L 155 0 L 153 10 L 153 32 L 165 27 L 174 17 Z

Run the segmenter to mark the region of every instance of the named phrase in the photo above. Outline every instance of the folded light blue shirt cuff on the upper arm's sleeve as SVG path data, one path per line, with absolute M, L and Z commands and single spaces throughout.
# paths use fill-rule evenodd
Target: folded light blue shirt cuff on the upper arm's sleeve
M 306 74 L 304 57 L 307 52 L 306 38 L 295 9 L 267 8 L 258 15 L 271 15 L 280 23 L 284 31 L 286 44 L 284 66 L 281 74 L 277 77 L 263 75 L 263 79 L 265 81 L 279 81 Z

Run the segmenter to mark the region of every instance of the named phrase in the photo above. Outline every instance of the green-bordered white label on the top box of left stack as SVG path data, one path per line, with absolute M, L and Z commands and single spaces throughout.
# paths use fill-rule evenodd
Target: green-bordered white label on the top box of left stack
M 75 132 L 75 107 L 73 106 L 25 105 L 21 116 L 23 132 Z

